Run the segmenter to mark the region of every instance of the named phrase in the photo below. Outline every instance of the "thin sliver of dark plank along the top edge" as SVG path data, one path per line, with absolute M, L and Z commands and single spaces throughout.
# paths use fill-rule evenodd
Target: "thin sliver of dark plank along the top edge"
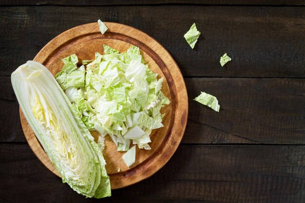
M 303 0 L 1 0 L 0 5 L 305 5 Z

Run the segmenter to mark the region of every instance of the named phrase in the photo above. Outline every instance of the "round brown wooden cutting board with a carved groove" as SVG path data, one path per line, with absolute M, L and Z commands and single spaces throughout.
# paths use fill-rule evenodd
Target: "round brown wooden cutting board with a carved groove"
M 103 44 L 120 52 L 125 52 L 131 45 L 135 45 L 140 48 L 141 55 L 149 64 L 149 68 L 158 74 L 158 78 L 164 77 L 162 92 L 170 99 L 171 104 L 161 110 L 161 113 L 166 113 L 162 122 L 164 127 L 152 130 L 152 149 L 136 147 L 136 161 L 127 167 L 122 159 L 125 152 L 118 152 L 112 140 L 106 136 L 103 154 L 111 188 L 115 189 L 150 177 L 169 161 L 178 148 L 187 124 L 188 95 L 177 64 L 161 44 L 133 27 L 112 22 L 105 24 L 109 29 L 104 35 L 100 33 L 97 22 L 67 30 L 45 45 L 34 60 L 45 65 L 55 75 L 63 66 L 61 59 L 68 55 L 76 54 L 79 61 L 92 60 L 95 58 L 95 52 L 104 53 Z M 38 159 L 59 176 L 21 110 L 20 119 L 24 135 Z M 98 137 L 96 131 L 92 131 L 92 134 L 95 139 Z

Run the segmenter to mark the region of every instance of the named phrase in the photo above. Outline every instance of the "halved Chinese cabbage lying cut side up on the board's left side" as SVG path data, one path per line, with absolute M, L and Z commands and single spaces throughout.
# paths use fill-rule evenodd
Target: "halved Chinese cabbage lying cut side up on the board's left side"
M 73 57 L 66 61 L 67 73 L 75 64 Z M 11 79 L 21 110 L 62 182 L 86 197 L 111 196 L 102 152 L 53 75 L 40 63 L 28 61 Z

